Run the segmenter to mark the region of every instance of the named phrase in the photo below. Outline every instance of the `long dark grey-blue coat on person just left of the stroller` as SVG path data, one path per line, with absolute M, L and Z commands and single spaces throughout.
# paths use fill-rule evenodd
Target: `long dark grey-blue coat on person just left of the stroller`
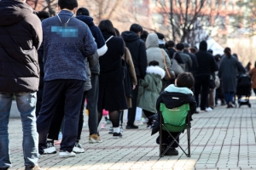
M 219 63 L 218 77 L 222 80 L 224 93 L 236 93 L 236 75 L 238 72 L 245 73 L 244 67 L 234 56 L 224 56 Z

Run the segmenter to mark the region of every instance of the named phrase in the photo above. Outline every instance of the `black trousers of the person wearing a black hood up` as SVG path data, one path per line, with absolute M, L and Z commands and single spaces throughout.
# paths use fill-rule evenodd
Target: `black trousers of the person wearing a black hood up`
M 195 101 L 199 106 L 199 94 L 201 92 L 201 110 L 206 110 L 208 92 L 210 89 L 210 75 L 195 76 Z

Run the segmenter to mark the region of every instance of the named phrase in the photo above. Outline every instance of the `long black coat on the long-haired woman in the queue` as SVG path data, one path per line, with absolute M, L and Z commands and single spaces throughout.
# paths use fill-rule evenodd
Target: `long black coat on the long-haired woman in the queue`
M 102 35 L 105 41 L 113 36 L 107 31 Z M 125 51 L 125 43 L 121 37 L 112 37 L 108 42 L 108 51 L 99 58 L 99 99 L 98 111 L 119 111 L 128 109 L 124 88 L 124 73 L 121 57 Z

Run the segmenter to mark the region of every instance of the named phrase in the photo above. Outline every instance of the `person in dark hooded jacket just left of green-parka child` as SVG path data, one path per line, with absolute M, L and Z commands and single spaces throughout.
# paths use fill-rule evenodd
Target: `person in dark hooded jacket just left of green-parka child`
M 143 27 L 138 24 L 132 24 L 130 31 L 122 32 L 126 47 L 129 48 L 131 52 L 132 62 L 136 71 L 137 82 L 144 78 L 147 69 L 147 54 L 145 42 L 140 38 L 143 32 Z M 132 107 L 128 109 L 128 122 L 126 129 L 137 129 L 138 127 L 134 125 L 136 109 L 137 109 L 137 94 L 138 86 L 132 91 Z

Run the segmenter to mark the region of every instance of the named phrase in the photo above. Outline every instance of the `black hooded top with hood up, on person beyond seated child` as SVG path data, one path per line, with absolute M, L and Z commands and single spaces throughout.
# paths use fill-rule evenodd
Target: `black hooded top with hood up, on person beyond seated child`
M 202 41 L 199 45 L 199 51 L 195 53 L 198 68 L 195 76 L 210 76 L 212 72 L 218 71 L 218 65 L 212 54 L 207 52 L 207 42 Z

